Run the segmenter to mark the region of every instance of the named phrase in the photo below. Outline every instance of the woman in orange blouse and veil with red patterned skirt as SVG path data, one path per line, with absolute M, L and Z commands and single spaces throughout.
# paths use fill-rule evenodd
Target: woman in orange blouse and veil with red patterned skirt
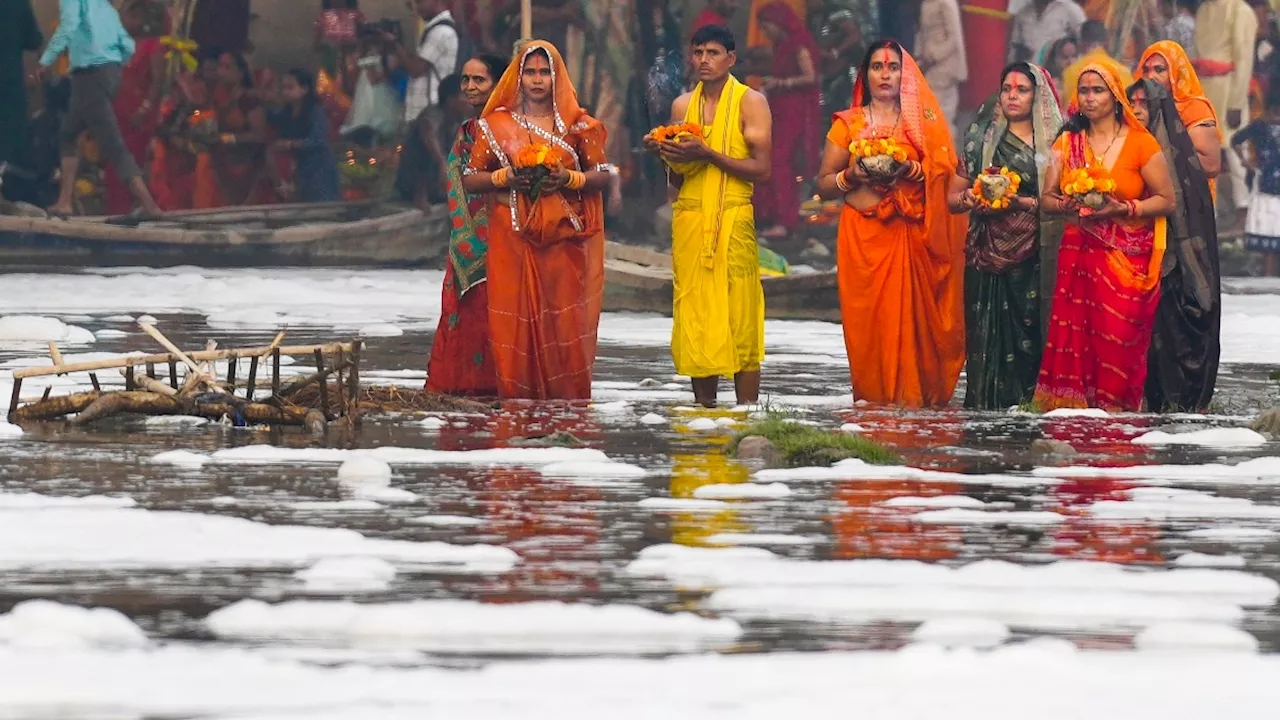
M 1120 78 L 1112 60 L 1084 67 L 1079 111 L 1053 143 L 1041 191 L 1044 211 L 1068 219 L 1036 388 L 1042 410 L 1142 407 L 1165 217 L 1175 199 L 1160 143 L 1134 115 Z M 1101 208 L 1082 204 L 1079 170 L 1115 182 Z

